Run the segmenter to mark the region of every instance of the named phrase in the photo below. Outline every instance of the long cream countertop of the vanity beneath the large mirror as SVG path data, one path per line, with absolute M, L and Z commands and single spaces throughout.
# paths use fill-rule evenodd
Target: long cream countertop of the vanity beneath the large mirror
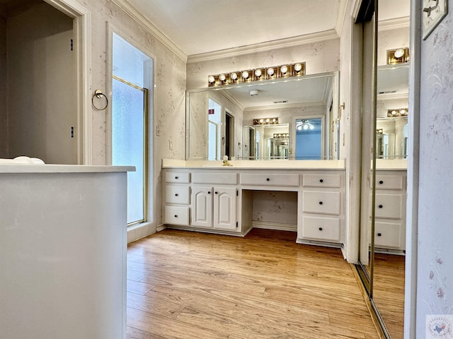
M 162 159 L 162 168 L 193 169 L 345 169 L 345 160 L 222 160 Z

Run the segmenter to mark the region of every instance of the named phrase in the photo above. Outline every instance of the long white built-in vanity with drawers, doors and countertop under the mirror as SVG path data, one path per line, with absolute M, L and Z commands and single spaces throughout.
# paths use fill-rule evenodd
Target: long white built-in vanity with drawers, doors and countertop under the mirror
M 323 246 L 343 244 L 343 160 L 258 160 L 253 163 L 237 160 L 231 161 L 231 167 L 214 164 L 163 161 L 166 226 L 243 237 L 253 227 L 254 192 L 294 192 L 297 242 Z

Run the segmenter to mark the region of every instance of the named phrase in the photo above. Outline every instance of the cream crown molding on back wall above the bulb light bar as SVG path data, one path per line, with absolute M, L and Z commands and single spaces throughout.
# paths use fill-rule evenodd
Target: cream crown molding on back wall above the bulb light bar
M 202 61 L 212 61 L 229 57 L 237 57 L 239 55 L 267 52 L 272 49 L 280 49 L 285 47 L 294 47 L 301 44 L 309 44 L 324 40 L 338 39 L 336 30 L 326 30 L 307 35 L 299 35 L 298 37 L 289 37 L 287 39 L 273 40 L 262 42 L 259 44 L 249 44 L 247 46 L 234 47 L 229 49 L 221 49 L 219 51 L 207 52 L 202 54 L 193 54 L 188 56 L 188 64 Z

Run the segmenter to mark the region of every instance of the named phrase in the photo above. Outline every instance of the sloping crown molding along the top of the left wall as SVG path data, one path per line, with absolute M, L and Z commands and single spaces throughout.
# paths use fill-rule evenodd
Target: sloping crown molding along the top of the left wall
M 122 11 L 125 11 L 132 19 L 134 19 L 139 25 L 144 28 L 147 32 L 149 32 L 153 37 L 155 37 L 161 44 L 164 44 L 166 48 L 168 48 L 173 54 L 176 55 L 179 59 L 181 59 L 184 62 L 187 62 L 187 54 L 183 52 L 182 49 L 178 47 L 177 44 L 175 44 L 169 37 L 167 37 L 164 32 L 159 30 L 154 23 L 151 23 L 151 21 L 145 17 L 142 13 L 137 11 L 136 8 L 134 8 L 129 2 L 126 0 L 112 0 L 113 4 L 117 5 L 122 9 Z

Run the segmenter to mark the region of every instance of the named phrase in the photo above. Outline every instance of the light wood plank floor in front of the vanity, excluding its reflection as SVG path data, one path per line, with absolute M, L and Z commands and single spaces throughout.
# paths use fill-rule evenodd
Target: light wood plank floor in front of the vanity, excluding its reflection
M 340 249 L 164 230 L 127 251 L 127 338 L 378 339 Z

